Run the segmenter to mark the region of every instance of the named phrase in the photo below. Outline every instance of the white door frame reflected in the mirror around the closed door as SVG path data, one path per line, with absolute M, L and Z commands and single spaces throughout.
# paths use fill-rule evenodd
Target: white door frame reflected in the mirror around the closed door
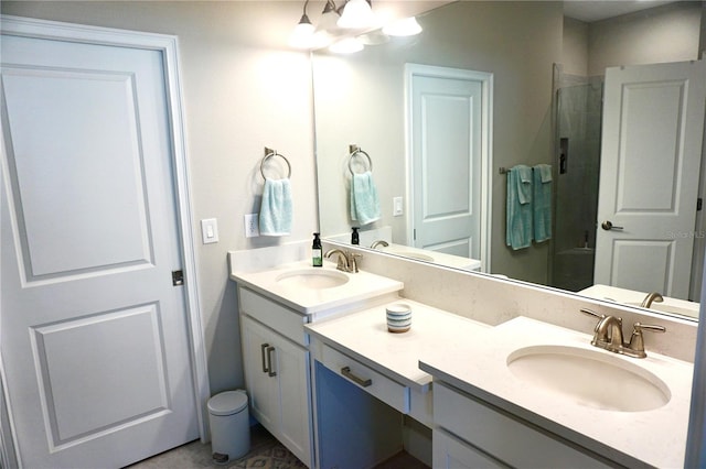
M 481 272 L 490 272 L 491 253 L 491 208 L 492 208 L 492 167 L 493 167 L 493 74 L 467 70 L 462 68 L 439 67 L 435 65 L 405 64 L 405 174 L 407 175 L 406 197 L 407 246 L 414 246 L 414 154 L 413 154 L 413 79 L 416 76 L 466 79 L 481 84 Z

